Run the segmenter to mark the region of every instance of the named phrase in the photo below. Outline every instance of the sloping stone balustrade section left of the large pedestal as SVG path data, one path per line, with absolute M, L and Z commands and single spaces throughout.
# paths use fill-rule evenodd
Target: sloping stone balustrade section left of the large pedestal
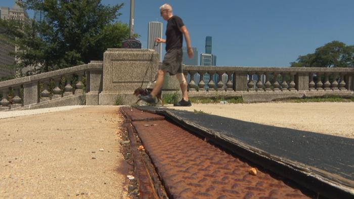
M 102 85 L 101 79 L 90 78 L 90 75 L 101 74 L 102 76 L 102 68 L 102 62 L 93 61 L 85 65 L 0 82 L 2 93 L 0 111 L 85 104 L 85 93 L 90 92 L 91 87 L 99 90 Z M 86 86 L 86 90 L 83 90 L 84 85 L 81 82 L 84 74 L 86 75 L 86 85 L 89 84 Z M 71 85 L 73 75 L 78 77 L 78 82 L 75 85 Z M 62 77 L 66 80 L 63 90 L 61 88 Z M 90 79 L 95 81 L 91 82 Z M 51 91 L 50 86 L 53 86 Z M 73 93 L 73 86 L 75 86 L 75 93 Z M 9 96 L 12 98 L 9 99 Z

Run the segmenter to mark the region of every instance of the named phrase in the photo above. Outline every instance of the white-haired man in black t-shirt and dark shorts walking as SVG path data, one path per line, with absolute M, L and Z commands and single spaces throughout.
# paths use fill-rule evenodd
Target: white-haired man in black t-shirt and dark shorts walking
M 171 76 L 176 75 L 182 90 L 182 100 L 173 106 L 189 107 L 192 106 L 188 99 L 187 81 L 183 75 L 182 69 L 182 44 L 183 35 L 187 43 L 188 57 L 193 57 L 193 50 L 191 47 L 191 39 L 189 32 L 184 25 L 182 19 L 172 14 L 172 7 L 169 4 L 164 4 L 160 7 L 161 17 L 167 21 L 166 39 L 155 38 L 157 43 L 166 43 L 166 54 L 157 73 L 157 80 L 154 89 L 149 95 L 140 96 L 141 100 L 155 104 L 156 95 L 162 89 L 163 79 L 165 73 L 168 72 Z

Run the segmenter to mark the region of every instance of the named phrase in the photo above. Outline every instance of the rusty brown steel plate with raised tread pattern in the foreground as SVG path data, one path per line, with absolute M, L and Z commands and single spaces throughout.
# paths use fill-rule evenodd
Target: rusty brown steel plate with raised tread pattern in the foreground
M 307 198 L 270 174 L 165 120 L 134 121 L 172 198 Z M 254 167 L 254 166 L 253 166 Z

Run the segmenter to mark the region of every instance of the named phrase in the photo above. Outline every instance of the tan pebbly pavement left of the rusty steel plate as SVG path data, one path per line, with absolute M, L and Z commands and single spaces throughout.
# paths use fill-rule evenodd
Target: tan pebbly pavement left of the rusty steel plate
M 0 198 L 126 198 L 118 109 L 0 113 Z

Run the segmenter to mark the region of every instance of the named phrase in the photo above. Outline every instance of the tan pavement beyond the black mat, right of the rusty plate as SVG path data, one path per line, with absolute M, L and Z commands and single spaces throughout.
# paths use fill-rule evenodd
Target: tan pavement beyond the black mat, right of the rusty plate
M 193 104 L 166 108 L 354 138 L 354 103 Z

